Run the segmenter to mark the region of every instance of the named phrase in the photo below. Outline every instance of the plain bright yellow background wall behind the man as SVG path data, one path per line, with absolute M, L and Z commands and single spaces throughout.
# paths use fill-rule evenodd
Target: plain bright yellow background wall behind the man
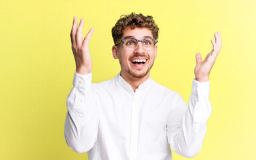
M 89 47 L 92 81 L 113 78 L 111 27 L 132 11 L 153 15 L 159 25 L 151 77 L 188 103 L 196 65 L 222 49 L 210 73 L 212 115 L 197 160 L 255 159 L 256 1 L 4 1 L 0 2 L 0 159 L 87 159 L 64 140 L 66 97 L 75 71 L 70 43 L 74 16 Z M 174 160 L 187 159 L 173 152 Z

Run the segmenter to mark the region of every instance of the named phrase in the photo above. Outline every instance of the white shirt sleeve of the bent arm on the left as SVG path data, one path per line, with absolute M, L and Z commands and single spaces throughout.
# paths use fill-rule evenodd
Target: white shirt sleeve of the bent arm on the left
M 66 99 L 68 112 L 64 138 L 77 153 L 89 151 L 97 141 L 99 103 L 92 89 L 92 74 L 74 73 L 73 88 Z

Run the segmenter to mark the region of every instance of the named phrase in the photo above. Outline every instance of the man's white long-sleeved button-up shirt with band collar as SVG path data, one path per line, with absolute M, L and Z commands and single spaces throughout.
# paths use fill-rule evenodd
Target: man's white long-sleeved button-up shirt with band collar
M 189 105 L 175 91 L 149 77 L 134 92 L 120 73 L 92 83 L 74 73 L 66 105 L 64 137 L 89 160 L 171 160 L 198 154 L 212 107 L 210 82 L 192 81 Z

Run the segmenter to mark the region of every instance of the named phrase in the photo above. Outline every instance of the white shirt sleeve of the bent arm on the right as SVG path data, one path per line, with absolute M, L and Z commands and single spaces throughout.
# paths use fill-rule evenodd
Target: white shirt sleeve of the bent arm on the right
M 177 94 L 167 119 L 168 143 L 174 152 L 194 157 L 202 148 L 207 119 L 212 112 L 209 101 L 210 82 L 192 81 L 189 104 Z

